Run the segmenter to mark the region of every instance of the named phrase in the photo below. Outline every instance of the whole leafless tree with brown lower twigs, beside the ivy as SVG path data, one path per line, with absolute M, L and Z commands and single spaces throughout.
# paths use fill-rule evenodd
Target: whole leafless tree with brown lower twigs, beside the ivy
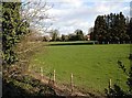
M 16 53 L 19 55 L 19 63 L 23 69 L 28 69 L 30 57 L 38 50 L 41 43 L 31 43 L 31 39 L 40 36 L 40 32 L 46 32 L 52 25 L 51 21 L 53 17 L 48 14 L 50 9 L 53 8 L 53 3 L 46 1 L 32 1 L 28 0 L 22 2 L 20 15 L 21 21 L 30 24 L 30 32 L 18 44 Z M 21 26 L 21 24 L 20 24 Z

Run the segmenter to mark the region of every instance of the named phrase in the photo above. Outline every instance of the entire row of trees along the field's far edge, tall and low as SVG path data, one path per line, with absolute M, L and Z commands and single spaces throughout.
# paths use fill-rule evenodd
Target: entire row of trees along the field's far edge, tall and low
M 98 15 L 94 28 L 89 29 L 88 34 L 84 34 L 82 30 L 77 29 L 74 33 L 62 34 L 58 30 L 50 31 L 50 41 L 98 41 L 102 43 L 131 43 L 132 41 L 132 19 L 125 18 L 122 12 Z M 43 41 L 47 41 L 43 37 Z

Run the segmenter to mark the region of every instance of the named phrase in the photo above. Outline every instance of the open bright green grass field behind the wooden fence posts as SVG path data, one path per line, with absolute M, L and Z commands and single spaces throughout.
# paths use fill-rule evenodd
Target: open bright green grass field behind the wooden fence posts
M 58 45 L 43 46 L 31 59 L 31 66 L 43 67 L 44 74 L 56 70 L 58 83 L 69 84 L 70 73 L 74 84 L 85 90 L 103 92 L 109 79 L 112 84 L 127 89 L 123 72 L 118 68 L 117 61 L 129 67 L 129 44 L 109 45 Z

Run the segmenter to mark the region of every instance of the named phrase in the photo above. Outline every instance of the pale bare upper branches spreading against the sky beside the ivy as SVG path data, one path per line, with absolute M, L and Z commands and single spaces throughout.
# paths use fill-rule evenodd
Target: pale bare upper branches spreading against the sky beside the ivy
M 46 1 L 42 2 L 42 0 L 24 2 L 21 8 L 22 21 L 29 22 L 31 28 L 45 32 L 47 30 L 46 28 L 51 26 L 46 26 L 46 20 L 52 20 L 50 14 L 47 14 L 47 11 L 52 8 L 53 4 L 50 6 Z

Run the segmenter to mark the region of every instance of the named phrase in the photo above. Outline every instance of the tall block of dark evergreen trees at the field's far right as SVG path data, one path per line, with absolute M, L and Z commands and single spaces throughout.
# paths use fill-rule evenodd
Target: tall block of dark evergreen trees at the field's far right
M 90 37 L 99 43 L 130 43 L 132 19 L 129 20 L 122 12 L 98 15 Z

